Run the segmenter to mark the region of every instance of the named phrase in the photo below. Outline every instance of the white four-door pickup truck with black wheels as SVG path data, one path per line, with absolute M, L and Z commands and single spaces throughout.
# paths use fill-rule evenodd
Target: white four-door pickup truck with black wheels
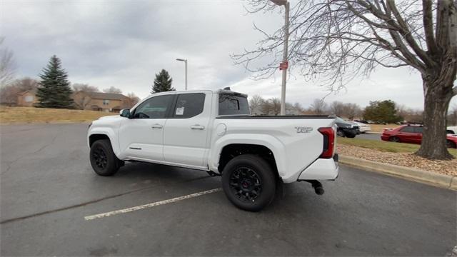
M 281 183 L 338 176 L 336 126 L 328 116 L 251 116 L 245 94 L 230 90 L 153 94 L 119 116 L 89 125 L 90 161 L 111 176 L 124 161 L 146 161 L 222 176 L 227 198 L 259 211 Z

